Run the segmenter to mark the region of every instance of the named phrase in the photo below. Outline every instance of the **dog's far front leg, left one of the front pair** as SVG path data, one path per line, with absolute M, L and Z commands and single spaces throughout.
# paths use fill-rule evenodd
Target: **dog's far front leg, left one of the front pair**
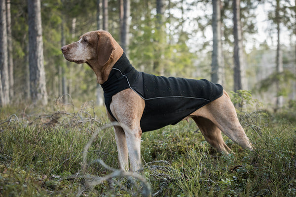
M 122 170 L 128 170 L 128 148 L 126 143 L 126 137 L 123 129 L 118 126 L 114 126 L 115 141 L 118 152 L 118 163 Z

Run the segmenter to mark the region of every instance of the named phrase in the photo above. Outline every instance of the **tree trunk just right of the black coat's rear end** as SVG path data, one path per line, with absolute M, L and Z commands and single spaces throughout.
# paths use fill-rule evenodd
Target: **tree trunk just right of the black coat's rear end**
M 240 21 L 240 0 L 233 0 L 233 36 L 234 36 L 234 92 L 246 87 L 244 80 L 243 41 Z

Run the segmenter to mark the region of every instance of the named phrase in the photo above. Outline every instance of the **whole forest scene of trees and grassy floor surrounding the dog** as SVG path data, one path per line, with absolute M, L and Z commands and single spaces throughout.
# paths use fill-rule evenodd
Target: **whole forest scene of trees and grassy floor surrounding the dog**
M 142 174 L 117 170 L 95 73 L 61 52 L 93 30 L 139 71 L 222 84 L 254 151 L 184 121 L 142 135 Z M 0 1 L 0 197 L 292 197 L 295 174 L 296 1 Z

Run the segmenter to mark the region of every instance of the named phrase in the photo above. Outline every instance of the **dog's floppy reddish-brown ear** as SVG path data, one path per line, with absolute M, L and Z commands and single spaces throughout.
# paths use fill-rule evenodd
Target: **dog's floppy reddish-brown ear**
M 104 66 L 111 58 L 114 50 L 112 37 L 105 33 L 98 33 L 98 63 Z

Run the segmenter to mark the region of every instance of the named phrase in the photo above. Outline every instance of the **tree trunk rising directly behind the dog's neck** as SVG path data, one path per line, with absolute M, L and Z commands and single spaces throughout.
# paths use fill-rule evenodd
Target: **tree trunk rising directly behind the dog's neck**
M 122 1 L 122 0 L 121 0 Z M 120 40 L 123 51 L 128 56 L 129 46 L 129 17 L 130 17 L 130 0 L 123 0 L 123 13 L 122 13 L 122 24 L 120 26 Z

